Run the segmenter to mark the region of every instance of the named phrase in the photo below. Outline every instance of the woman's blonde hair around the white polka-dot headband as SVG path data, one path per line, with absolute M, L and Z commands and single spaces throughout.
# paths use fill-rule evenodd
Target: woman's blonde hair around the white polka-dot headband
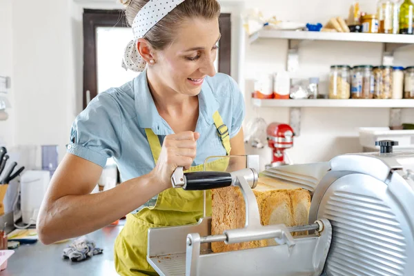
M 149 0 L 119 1 L 126 6 L 125 17 L 128 24 L 132 26 L 132 22 L 137 16 L 137 13 Z M 182 21 L 197 17 L 215 19 L 218 18 L 219 15 L 220 5 L 217 0 L 186 0 L 157 22 L 157 24 L 144 35 L 144 38 L 155 50 L 162 50 L 172 42 L 175 30 L 177 30 Z

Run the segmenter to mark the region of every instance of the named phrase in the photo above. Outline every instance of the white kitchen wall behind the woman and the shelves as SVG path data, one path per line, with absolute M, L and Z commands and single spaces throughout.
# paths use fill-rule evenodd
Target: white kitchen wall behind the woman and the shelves
M 246 8 L 259 8 L 269 16 L 276 15 L 278 19 L 324 23 L 331 16 L 346 17 L 351 2 L 246 0 L 244 5 Z M 361 2 L 365 10 L 375 10 L 374 1 Z M 63 157 L 70 124 L 81 110 L 82 9 L 122 6 L 116 0 L 0 0 L 0 3 L 0 22 L 12 22 L 13 26 L 11 32 L 7 24 L 0 24 L 0 34 L 6 32 L 6 37 L 11 37 L 12 41 L 0 43 L 0 49 L 6 47 L 6 51 L 0 51 L 1 59 L 6 58 L 6 68 L 0 62 L 0 73 L 1 70 L 6 70 L 6 74 L 12 75 L 11 94 L 14 96 L 15 124 L 8 121 L 6 126 L 8 132 L 14 133 L 14 139 L 8 139 L 14 141 L 14 144 L 59 144 L 60 157 Z M 317 3 L 323 5 L 324 9 L 316 8 Z M 224 8 L 226 9 L 228 8 Z M 239 38 L 234 37 L 232 41 L 237 42 Z M 284 68 L 287 43 L 262 40 L 253 45 L 241 45 L 242 50 L 244 47 L 245 57 L 233 57 L 232 63 L 241 66 L 239 75 L 242 76 L 239 77 L 245 77 L 246 83 L 243 81 L 240 86 L 244 88 L 246 84 L 246 99 L 250 99 L 251 82 L 248 79 L 251 78 L 251 72 L 273 72 Z M 12 55 L 8 54 L 11 50 Z M 332 63 L 381 61 L 380 45 L 369 43 L 315 42 L 301 48 L 299 55 L 302 70 L 312 70 L 313 75 L 321 77 L 328 72 Z M 409 58 L 397 55 L 396 61 L 404 61 L 402 65 L 414 64 L 413 55 Z M 266 68 L 265 62 L 269 61 L 272 65 Z M 10 65 L 11 62 L 13 66 Z M 247 108 L 246 121 L 254 115 L 250 101 L 247 101 Z M 268 122 L 288 122 L 287 108 L 260 108 L 257 112 Z M 338 118 L 334 119 L 335 116 Z M 387 109 L 304 108 L 302 117 L 301 137 L 295 139 L 295 148 L 290 150 L 296 162 L 327 160 L 342 152 L 359 151 L 357 127 L 388 125 Z M 414 112 L 405 112 L 404 117 L 411 119 Z M 265 163 L 270 161 L 268 150 L 259 153 L 264 156 Z

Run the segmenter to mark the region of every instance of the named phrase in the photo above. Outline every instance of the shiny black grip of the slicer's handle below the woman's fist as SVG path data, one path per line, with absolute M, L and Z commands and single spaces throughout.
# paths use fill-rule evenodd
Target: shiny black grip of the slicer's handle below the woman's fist
M 187 172 L 184 177 L 184 190 L 210 190 L 228 187 L 233 183 L 229 172 Z

